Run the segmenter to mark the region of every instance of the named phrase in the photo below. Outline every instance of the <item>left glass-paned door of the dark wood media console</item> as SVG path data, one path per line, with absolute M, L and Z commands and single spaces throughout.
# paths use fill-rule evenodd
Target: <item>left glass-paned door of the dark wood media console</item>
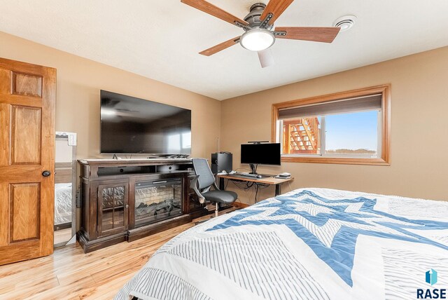
M 113 181 L 98 186 L 98 236 L 127 230 L 129 182 Z

